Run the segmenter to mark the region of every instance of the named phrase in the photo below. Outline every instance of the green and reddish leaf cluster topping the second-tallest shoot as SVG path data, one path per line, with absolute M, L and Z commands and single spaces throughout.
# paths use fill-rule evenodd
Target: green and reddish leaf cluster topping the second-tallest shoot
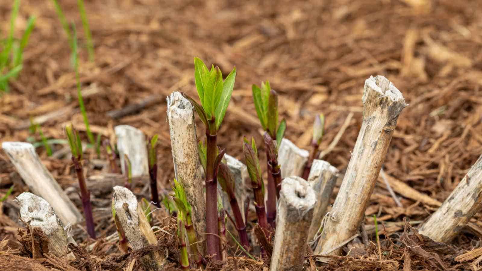
M 261 82 L 261 88 L 253 85 L 252 90 L 254 107 L 261 126 L 265 131 L 268 131 L 279 146 L 286 130 L 286 121 L 281 120 L 278 126 L 278 94 L 271 89 L 269 81 Z

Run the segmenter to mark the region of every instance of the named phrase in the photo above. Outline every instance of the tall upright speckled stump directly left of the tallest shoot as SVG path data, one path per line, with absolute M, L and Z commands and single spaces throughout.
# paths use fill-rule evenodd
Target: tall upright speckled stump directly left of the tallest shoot
M 198 247 L 204 251 L 202 242 L 206 236 L 206 202 L 203 181 L 199 170 L 199 154 L 196 123 L 191 103 L 180 92 L 167 97 L 167 120 L 171 134 L 174 174 L 186 191 L 187 202 L 192 208 L 192 222 L 198 237 Z

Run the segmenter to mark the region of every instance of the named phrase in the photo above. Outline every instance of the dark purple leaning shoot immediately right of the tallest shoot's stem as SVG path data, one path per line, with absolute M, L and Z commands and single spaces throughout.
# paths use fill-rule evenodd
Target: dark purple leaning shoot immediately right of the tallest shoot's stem
M 221 151 L 224 154 L 224 150 Z M 246 225 L 244 224 L 244 219 L 241 214 L 241 210 L 238 204 L 238 200 L 236 198 L 235 190 L 236 190 L 236 183 L 234 181 L 234 176 L 229 169 L 228 165 L 225 163 L 219 163 L 218 168 L 216 170 L 217 173 L 217 180 L 224 192 L 228 194 L 229 198 L 229 205 L 231 206 L 231 210 L 234 215 L 233 224 L 236 226 L 236 230 L 238 231 L 238 235 L 240 238 L 240 243 L 244 247 L 244 249 L 248 250 L 249 248 L 249 241 L 248 235 L 246 233 Z

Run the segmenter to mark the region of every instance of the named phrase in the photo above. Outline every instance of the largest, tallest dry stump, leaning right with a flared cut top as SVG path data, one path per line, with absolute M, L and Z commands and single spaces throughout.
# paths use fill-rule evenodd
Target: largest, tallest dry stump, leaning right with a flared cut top
M 341 247 L 333 248 L 358 231 L 398 116 L 407 106 L 402 93 L 380 75 L 365 81 L 362 101 L 362 127 L 333 208 L 327 214 L 315 254 L 341 255 Z

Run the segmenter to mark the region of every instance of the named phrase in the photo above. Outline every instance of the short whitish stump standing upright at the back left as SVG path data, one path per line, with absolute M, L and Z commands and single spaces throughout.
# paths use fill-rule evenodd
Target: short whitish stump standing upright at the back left
M 117 125 L 114 127 L 117 137 L 117 149 L 120 154 L 120 167 L 122 174 L 126 174 L 127 168 L 124 162 L 124 154 L 131 161 L 132 176 L 148 176 L 149 164 L 147 160 L 146 135 L 129 125 Z

